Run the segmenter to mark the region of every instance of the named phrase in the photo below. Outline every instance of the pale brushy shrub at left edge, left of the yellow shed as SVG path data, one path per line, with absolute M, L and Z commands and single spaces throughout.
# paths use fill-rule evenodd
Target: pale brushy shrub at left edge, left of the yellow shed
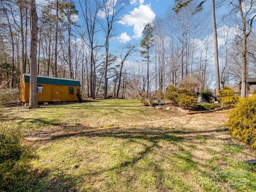
M 19 98 L 19 90 L 16 89 L 0 89 L 0 103 L 17 102 Z

